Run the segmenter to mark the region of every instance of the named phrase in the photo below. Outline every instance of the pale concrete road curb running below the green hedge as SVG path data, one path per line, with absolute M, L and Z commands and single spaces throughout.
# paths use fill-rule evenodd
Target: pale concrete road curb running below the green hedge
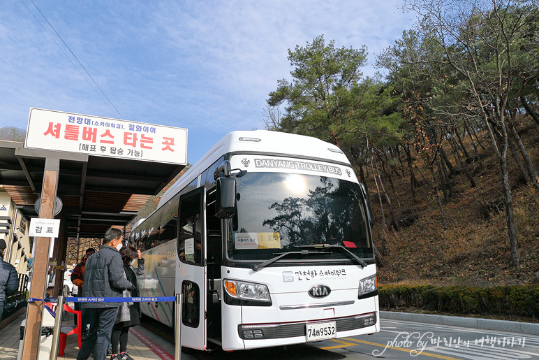
M 414 314 L 413 312 L 381 311 L 382 319 L 404 320 L 408 322 L 425 322 L 427 324 L 462 326 L 473 329 L 510 331 L 539 335 L 539 324 L 530 322 L 508 322 L 505 320 L 480 319 L 476 317 L 458 317 L 447 315 Z

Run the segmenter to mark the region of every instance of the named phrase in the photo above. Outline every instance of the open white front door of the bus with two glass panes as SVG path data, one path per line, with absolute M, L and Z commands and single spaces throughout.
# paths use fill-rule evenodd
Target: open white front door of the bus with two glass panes
M 182 345 L 206 348 L 206 192 L 200 187 L 179 198 L 176 289 L 182 291 Z

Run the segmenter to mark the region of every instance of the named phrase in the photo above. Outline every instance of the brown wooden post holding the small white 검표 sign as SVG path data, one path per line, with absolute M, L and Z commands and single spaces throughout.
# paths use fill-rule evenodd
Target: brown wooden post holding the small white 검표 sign
M 40 219 L 53 219 L 54 199 L 58 187 L 60 160 L 45 159 L 45 174 L 43 175 L 43 189 L 41 190 Z M 50 238 L 38 237 L 34 251 L 34 266 L 32 268 L 32 282 L 30 287 L 31 298 L 45 296 L 47 270 L 49 268 Z M 24 346 L 22 347 L 22 360 L 37 360 L 41 338 L 41 317 L 43 301 L 28 303 L 27 325 L 24 331 Z

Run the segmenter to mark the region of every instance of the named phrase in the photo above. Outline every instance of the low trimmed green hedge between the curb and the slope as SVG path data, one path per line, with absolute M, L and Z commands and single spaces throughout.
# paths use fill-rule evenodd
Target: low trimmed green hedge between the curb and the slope
M 418 308 L 457 314 L 492 314 L 539 317 L 539 286 L 435 287 L 383 285 L 380 308 Z

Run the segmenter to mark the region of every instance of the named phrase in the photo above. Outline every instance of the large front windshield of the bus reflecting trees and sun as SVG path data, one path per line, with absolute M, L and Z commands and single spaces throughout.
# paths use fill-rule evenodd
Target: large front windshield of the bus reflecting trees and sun
M 340 245 L 374 258 L 360 185 L 298 173 L 250 172 L 237 178 L 237 215 L 232 218 L 228 257 L 264 260 L 305 245 Z M 350 259 L 338 247 L 283 261 Z

